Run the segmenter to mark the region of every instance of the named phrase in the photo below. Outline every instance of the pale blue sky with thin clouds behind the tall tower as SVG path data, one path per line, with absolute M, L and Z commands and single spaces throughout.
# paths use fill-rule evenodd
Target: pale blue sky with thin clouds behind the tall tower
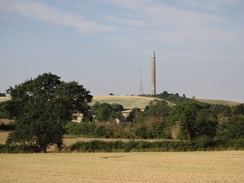
M 0 0 L 0 93 L 51 72 L 92 95 L 244 103 L 243 0 Z

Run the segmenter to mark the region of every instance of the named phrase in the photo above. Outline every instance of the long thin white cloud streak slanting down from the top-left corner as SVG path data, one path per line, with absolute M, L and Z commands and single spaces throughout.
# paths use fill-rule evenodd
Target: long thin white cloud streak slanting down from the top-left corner
M 109 32 L 115 30 L 114 27 L 87 21 L 81 16 L 64 13 L 58 8 L 48 7 L 36 1 L 1 0 L 0 10 L 18 13 L 44 22 L 73 27 L 81 33 Z

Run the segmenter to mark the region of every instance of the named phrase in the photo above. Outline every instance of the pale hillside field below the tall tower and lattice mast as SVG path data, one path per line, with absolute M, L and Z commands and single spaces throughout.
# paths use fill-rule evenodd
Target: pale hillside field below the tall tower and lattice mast
M 121 104 L 125 109 L 133 109 L 135 107 L 138 107 L 139 109 L 144 109 L 149 104 L 149 102 L 154 99 L 163 100 L 159 98 L 143 96 L 96 95 L 93 97 L 91 105 L 93 105 L 95 102 L 106 102 L 109 104 Z

